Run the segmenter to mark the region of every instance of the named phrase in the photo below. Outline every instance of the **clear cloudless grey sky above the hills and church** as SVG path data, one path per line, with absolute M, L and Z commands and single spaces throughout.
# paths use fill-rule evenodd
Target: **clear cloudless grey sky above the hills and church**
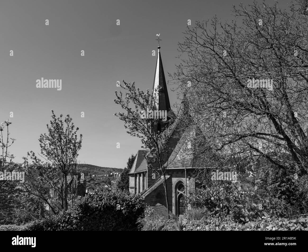
M 10 118 L 10 137 L 17 138 L 10 149 L 14 161 L 22 162 L 30 150 L 39 152 L 39 135 L 47 132 L 52 109 L 57 116 L 70 114 L 83 134 L 81 163 L 124 168 L 141 144 L 113 115 L 120 111 L 113 101 L 120 89 L 116 82 L 124 79 L 152 89 L 159 33 L 168 80 L 167 73 L 179 63 L 177 42 L 182 41 L 187 20 L 194 25 L 215 14 L 222 21 L 231 20 L 232 4 L 240 2 L 252 0 L 1 0 L 0 122 L 14 113 Z M 285 9 L 290 1 L 278 2 Z M 62 90 L 36 88 L 41 78 L 62 79 Z M 176 93 L 170 88 L 174 104 Z

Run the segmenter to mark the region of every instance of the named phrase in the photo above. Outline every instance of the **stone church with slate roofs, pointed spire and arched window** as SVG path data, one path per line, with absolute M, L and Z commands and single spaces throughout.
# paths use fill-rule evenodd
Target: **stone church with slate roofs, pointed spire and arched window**
M 182 132 L 179 121 L 175 118 L 171 110 L 166 85 L 164 68 L 161 60 L 160 46 L 156 61 L 152 96 L 155 97 L 156 110 L 167 110 L 167 120 L 157 125 L 161 133 L 168 130 L 169 150 L 167 157 L 164 158 L 166 172 L 166 187 L 169 203 L 169 211 L 180 215 L 185 211 L 184 194 L 189 194 L 195 190 L 195 180 L 191 176 L 193 168 L 193 155 L 188 153 L 190 143 L 187 139 L 189 134 Z M 159 92 L 156 92 L 157 88 Z M 183 103 L 183 102 L 182 102 Z M 140 194 L 146 204 L 154 209 L 155 213 L 166 214 L 166 197 L 162 178 L 157 178 L 157 174 L 148 168 L 148 160 L 152 160 L 151 165 L 154 169 L 159 169 L 159 163 L 148 156 L 147 150 L 138 150 L 135 162 L 129 172 L 129 191 L 131 194 Z

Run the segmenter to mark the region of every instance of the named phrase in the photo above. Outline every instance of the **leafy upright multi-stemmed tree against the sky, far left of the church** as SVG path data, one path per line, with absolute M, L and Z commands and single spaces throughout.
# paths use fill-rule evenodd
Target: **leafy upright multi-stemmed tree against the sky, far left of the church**
M 23 190 L 40 197 L 54 212 L 57 208 L 66 211 L 68 202 L 73 201 L 77 192 L 77 183 L 72 176 L 79 174 L 76 169 L 78 151 L 81 148 L 82 135 L 77 139 L 77 131 L 72 118 L 63 115 L 56 118 L 51 110 L 52 120 L 47 124 L 48 134 L 40 135 L 43 162 L 33 151 L 28 155 L 32 164 L 25 168 L 28 181 L 24 183 Z M 45 190 L 46 189 L 46 190 Z M 55 192 L 55 199 L 50 199 L 49 189 Z

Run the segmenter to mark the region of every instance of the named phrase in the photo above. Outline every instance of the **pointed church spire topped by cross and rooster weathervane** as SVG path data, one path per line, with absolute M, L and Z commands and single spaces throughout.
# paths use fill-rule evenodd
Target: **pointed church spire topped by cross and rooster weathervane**
M 167 112 L 169 112 L 171 110 L 171 107 L 170 107 L 163 63 L 161 61 L 161 56 L 160 56 L 159 41 L 161 39 L 158 37 L 157 40 L 158 40 L 158 47 L 157 47 L 158 55 L 156 60 L 156 69 L 155 69 L 153 90 L 152 90 L 152 96 L 153 98 L 155 98 L 155 104 L 152 105 L 155 107 L 156 110 L 167 110 Z M 156 92 L 157 88 L 159 88 L 160 90 Z

